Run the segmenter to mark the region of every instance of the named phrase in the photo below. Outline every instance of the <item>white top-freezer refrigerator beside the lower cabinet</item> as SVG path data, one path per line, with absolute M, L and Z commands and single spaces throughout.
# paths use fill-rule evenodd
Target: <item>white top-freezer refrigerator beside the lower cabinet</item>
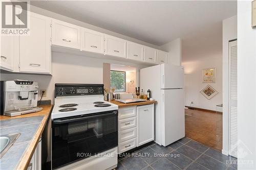
M 157 101 L 155 142 L 166 146 L 184 137 L 184 68 L 170 64 L 142 68 L 140 88 L 150 89 Z

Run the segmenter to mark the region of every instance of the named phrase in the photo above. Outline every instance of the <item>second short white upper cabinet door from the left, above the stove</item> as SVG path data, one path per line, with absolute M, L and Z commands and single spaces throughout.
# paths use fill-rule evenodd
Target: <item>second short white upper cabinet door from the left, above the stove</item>
M 81 50 L 104 54 L 104 34 L 82 28 Z

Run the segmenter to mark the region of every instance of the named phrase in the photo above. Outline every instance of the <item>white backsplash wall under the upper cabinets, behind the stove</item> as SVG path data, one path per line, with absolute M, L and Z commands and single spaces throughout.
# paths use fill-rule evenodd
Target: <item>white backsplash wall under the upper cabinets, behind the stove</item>
M 52 76 L 1 74 L 1 80 L 36 81 L 39 90 L 47 90 L 47 96 L 42 100 L 52 100 L 53 102 L 55 83 L 103 83 L 103 63 L 123 64 L 123 61 L 53 52 Z M 139 70 L 147 66 L 129 62 L 125 62 L 125 65 L 136 67 L 136 82 L 139 83 Z

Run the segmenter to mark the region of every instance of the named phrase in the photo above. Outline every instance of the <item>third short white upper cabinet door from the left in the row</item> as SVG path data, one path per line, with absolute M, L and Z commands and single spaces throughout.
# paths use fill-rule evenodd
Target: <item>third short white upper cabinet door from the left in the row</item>
M 126 58 L 126 40 L 110 35 L 105 36 L 105 55 Z

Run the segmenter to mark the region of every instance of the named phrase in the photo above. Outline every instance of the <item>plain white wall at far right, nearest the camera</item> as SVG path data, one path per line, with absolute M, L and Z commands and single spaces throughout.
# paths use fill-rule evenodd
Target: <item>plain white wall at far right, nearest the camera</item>
M 251 28 L 251 1 L 238 1 L 238 169 L 256 169 L 255 68 L 256 29 Z M 252 164 L 242 164 L 244 161 Z

